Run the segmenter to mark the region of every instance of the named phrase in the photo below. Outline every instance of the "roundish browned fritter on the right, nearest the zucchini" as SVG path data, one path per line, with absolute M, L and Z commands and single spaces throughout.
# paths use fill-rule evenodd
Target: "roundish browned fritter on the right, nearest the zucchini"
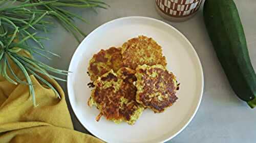
M 136 68 L 136 101 L 155 112 L 163 112 L 178 99 L 176 77 L 162 65 L 142 65 Z

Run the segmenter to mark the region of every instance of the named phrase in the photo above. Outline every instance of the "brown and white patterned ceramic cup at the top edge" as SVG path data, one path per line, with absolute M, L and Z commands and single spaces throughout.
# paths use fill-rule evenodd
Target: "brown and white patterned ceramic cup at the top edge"
M 194 16 L 202 0 L 155 0 L 159 14 L 170 21 L 185 21 Z

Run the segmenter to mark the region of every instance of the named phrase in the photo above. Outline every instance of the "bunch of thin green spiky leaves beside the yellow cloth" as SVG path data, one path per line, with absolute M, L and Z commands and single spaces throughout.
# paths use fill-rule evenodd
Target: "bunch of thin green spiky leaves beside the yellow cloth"
M 39 76 L 46 75 L 50 78 L 66 81 L 65 79 L 51 75 L 68 75 L 68 71 L 55 69 L 40 61 L 33 59 L 33 54 L 38 54 L 50 60 L 47 54 L 59 56 L 46 50 L 40 40 L 49 40 L 47 37 L 40 37 L 36 34 L 40 31 L 49 32 L 54 25 L 52 18 L 57 20 L 68 32 L 73 34 L 79 42 L 78 36 L 86 36 L 74 23 L 74 18 L 87 22 L 84 18 L 65 9 L 72 8 L 105 8 L 108 5 L 100 0 L 16 0 L 0 1 L 0 75 L 6 80 L 17 84 L 24 83 L 29 86 L 29 93 L 32 96 L 33 104 L 36 106 L 34 87 L 30 74 L 44 82 L 56 94 L 54 87 Z M 64 8 L 65 7 L 65 8 Z M 88 22 L 87 22 L 88 23 Z M 31 42 L 36 46 L 31 46 Z M 29 55 L 22 55 L 20 51 Z M 28 57 L 30 56 L 30 57 Z M 13 71 L 9 59 L 24 74 L 25 80 L 21 80 Z M 8 71 L 8 72 L 7 72 Z M 10 71 L 10 72 L 9 72 Z M 9 75 L 12 75 L 11 77 Z M 58 95 L 59 97 L 59 95 Z M 60 97 L 59 97 L 60 98 Z

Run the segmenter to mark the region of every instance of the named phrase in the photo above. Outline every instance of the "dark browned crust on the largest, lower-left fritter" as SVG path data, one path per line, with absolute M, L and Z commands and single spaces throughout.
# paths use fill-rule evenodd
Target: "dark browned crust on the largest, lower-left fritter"
M 117 76 L 109 73 L 101 78 L 102 81 L 114 81 L 117 82 L 121 79 L 120 88 L 115 92 L 114 87 L 102 89 L 103 84 L 96 84 L 96 88 L 93 91 L 92 97 L 94 101 L 101 106 L 98 119 L 103 115 L 107 120 L 119 120 L 125 119 L 129 121 L 131 115 L 138 108 L 139 103 L 136 102 L 136 87 L 133 84 L 136 81 L 135 71 L 128 68 L 121 68 L 117 72 Z M 123 104 L 120 107 L 120 99 L 125 98 L 128 100 L 127 104 Z

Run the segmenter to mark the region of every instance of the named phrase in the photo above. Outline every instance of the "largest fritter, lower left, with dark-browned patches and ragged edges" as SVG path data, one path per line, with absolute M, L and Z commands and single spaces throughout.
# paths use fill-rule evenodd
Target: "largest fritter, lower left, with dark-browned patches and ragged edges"
M 106 120 L 134 124 L 140 117 L 144 107 L 136 102 L 135 71 L 120 68 L 117 73 L 113 70 L 105 73 L 95 82 L 88 105 L 95 105 L 100 110 L 97 121 L 101 116 Z

